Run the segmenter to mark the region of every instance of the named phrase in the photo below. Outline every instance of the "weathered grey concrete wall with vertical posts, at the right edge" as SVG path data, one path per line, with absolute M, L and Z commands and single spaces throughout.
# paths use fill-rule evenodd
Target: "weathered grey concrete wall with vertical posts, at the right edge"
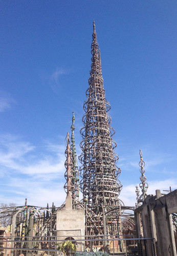
M 157 255 L 176 256 L 171 219 L 171 214 L 176 212 L 177 189 L 165 196 L 161 195 L 160 190 L 156 190 L 156 196 L 147 196 L 143 204 L 135 209 L 137 238 L 142 237 L 141 215 L 143 237 L 155 239 L 154 245 L 150 240 L 147 242 L 146 248 L 149 256 L 153 255 L 153 246 L 156 246 Z

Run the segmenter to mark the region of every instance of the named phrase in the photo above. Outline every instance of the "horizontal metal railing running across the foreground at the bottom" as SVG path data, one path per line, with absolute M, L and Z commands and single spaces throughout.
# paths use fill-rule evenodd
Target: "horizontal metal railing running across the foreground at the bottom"
M 128 237 L 128 238 L 127 238 Z M 132 237 L 132 238 L 130 238 Z M 109 255 L 156 256 L 153 238 L 134 238 L 134 236 L 74 236 L 74 237 L 6 237 L 4 238 L 4 256 L 24 256 L 50 254 L 63 255 L 57 250 L 57 244 L 70 240 L 76 245 L 76 252 L 107 252 Z

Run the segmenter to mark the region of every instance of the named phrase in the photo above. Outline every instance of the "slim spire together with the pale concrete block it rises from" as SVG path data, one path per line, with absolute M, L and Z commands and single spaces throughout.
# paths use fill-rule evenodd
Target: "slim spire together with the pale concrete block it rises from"
M 67 133 L 66 137 L 67 150 L 65 151 L 65 156 L 67 160 L 65 161 L 65 178 L 67 182 L 64 185 L 65 192 L 67 193 L 65 208 L 57 210 L 57 221 L 56 230 L 57 236 L 60 240 L 69 240 L 73 238 L 78 245 L 78 250 L 84 250 L 84 242 L 80 241 L 84 238 L 85 230 L 85 215 L 84 209 L 75 209 L 73 207 L 73 191 L 74 185 L 72 183 L 73 173 L 72 173 L 72 159 L 71 159 L 71 147 L 70 147 L 70 136 Z M 77 241 L 79 240 L 79 241 Z

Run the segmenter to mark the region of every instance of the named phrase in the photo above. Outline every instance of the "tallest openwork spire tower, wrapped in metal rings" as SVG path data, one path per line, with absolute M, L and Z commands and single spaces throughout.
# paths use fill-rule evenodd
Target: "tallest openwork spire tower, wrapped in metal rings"
M 95 22 L 93 29 L 89 88 L 83 105 L 84 127 L 80 130 L 82 136 L 80 143 L 82 154 L 79 157 L 82 163 L 80 186 L 86 205 L 103 220 L 104 208 L 107 211 L 107 206 L 120 204 L 118 196 L 122 184 L 118 180 L 121 170 L 116 165 L 118 155 L 114 152 L 116 142 L 112 138 L 115 131 L 110 126 L 111 117 L 108 114 L 110 104 L 105 99 Z M 101 228 L 100 224 L 96 226 Z M 98 232 L 103 233 L 103 230 L 97 230 Z

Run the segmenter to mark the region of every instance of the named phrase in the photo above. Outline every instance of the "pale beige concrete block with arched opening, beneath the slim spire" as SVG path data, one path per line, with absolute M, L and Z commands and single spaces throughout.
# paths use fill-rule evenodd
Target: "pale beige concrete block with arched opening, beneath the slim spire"
M 68 237 L 74 238 L 77 242 L 77 250 L 84 250 L 84 242 L 78 240 L 84 239 L 85 216 L 84 209 L 64 209 L 57 211 L 57 236 L 58 240 L 65 240 Z M 82 237 L 81 237 L 82 236 Z

